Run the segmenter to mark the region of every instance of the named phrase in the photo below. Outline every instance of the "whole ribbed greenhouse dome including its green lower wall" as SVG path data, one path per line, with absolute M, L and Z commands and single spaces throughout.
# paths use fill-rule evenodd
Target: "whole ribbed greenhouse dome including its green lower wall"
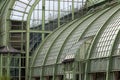
M 120 4 L 62 25 L 37 48 L 30 76 L 41 80 L 117 80 L 119 34 Z

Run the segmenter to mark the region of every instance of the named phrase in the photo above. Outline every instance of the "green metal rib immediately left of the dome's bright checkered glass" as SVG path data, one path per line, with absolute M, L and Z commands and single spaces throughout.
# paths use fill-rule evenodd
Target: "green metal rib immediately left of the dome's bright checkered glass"
M 113 7 L 112 7 L 113 8 Z M 90 46 L 90 49 L 89 49 L 89 52 L 88 52 L 88 55 L 86 57 L 86 66 L 85 66 L 85 77 L 84 77 L 84 80 L 89 80 L 89 77 L 88 77 L 88 71 L 89 71 L 89 63 L 90 63 L 90 56 L 92 54 L 92 49 L 93 49 L 93 46 L 95 44 L 95 40 L 98 38 L 98 36 L 100 35 L 100 32 L 103 30 L 103 28 L 107 25 L 107 23 L 109 22 L 109 20 L 113 17 L 113 15 L 115 14 L 116 12 L 114 12 L 113 14 L 111 14 L 111 16 L 109 17 L 109 19 L 104 23 L 104 25 L 100 28 L 100 30 L 98 31 L 97 35 L 95 36 L 95 38 L 93 39 L 93 42 Z M 107 76 L 106 76 L 106 80 L 108 80 Z

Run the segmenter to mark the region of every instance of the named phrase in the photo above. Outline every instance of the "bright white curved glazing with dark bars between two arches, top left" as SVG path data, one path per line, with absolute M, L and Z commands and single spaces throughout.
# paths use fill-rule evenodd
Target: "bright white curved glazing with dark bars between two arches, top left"
M 35 0 L 16 0 L 11 9 L 10 19 L 12 20 L 26 20 L 29 10 L 34 4 Z

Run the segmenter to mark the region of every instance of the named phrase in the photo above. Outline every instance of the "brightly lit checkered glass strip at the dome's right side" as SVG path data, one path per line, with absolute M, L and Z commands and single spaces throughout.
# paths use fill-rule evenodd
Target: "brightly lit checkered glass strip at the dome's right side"
M 120 19 L 117 18 L 115 21 L 110 22 L 106 29 L 103 31 L 103 34 L 101 34 L 100 38 L 97 41 L 96 48 L 94 48 L 92 58 L 109 56 L 112 44 L 120 29 L 120 24 L 118 24 L 119 21 Z

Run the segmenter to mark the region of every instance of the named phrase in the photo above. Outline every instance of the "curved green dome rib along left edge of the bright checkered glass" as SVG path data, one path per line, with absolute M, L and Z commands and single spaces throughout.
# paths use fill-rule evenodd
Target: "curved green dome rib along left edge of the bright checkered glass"
M 114 6 L 112 7 L 114 8 Z M 108 10 L 111 10 L 108 9 Z M 106 12 L 108 12 L 108 10 Z M 117 11 L 117 10 L 116 10 Z M 103 29 L 106 27 L 106 25 L 109 23 L 109 21 L 111 20 L 111 18 L 113 17 L 113 15 L 116 13 L 116 11 L 114 11 L 113 13 L 111 13 L 108 17 L 108 19 L 104 22 L 104 24 L 102 25 L 102 27 L 99 29 L 97 35 L 95 36 L 93 42 L 91 43 L 91 46 L 90 46 L 90 49 L 89 49 L 89 52 L 88 52 L 88 55 L 86 57 L 86 65 L 85 65 L 85 76 L 84 76 L 84 80 L 89 80 L 89 76 L 88 76 L 88 71 L 90 69 L 90 56 L 92 55 L 92 51 L 93 51 L 93 48 L 94 48 L 94 45 L 96 43 L 96 40 L 98 39 L 99 35 L 101 34 L 101 31 L 103 31 Z M 106 80 L 108 80 L 108 71 L 106 72 Z

